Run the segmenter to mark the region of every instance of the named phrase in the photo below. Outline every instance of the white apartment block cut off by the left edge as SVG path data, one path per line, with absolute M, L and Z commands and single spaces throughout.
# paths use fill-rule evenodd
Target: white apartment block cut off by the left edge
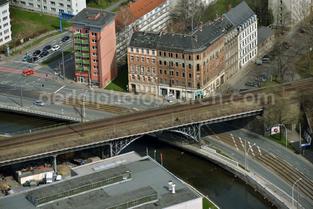
M 3 46 L 11 40 L 9 2 L 0 0 L 0 46 Z

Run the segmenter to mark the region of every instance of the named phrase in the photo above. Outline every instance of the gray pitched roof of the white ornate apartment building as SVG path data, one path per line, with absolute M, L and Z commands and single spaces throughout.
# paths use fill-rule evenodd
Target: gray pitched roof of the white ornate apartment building
M 233 25 L 238 27 L 254 14 L 255 13 L 248 4 L 245 1 L 242 1 L 235 8 L 231 9 L 230 12 L 225 13 L 225 16 Z

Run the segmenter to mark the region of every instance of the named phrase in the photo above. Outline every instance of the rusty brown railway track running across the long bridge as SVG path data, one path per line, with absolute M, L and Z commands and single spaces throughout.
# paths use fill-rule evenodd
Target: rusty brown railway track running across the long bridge
M 285 85 L 285 91 L 294 91 L 296 88 L 299 88 L 301 86 L 311 86 L 313 85 L 313 79 L 307 79 L 304 81 L 300 82 L 294 82 L 289 85 Z M 252 91 L 249 91 L 251 94 L 258 94 L 259 92 L 262 92 L 263 89 L 254 89 Z M 232 101 L 237 102 L 241 101 L 242 99 L 245 98 L 245 93 L 238 93 L 237 97 L 233 98 Z M 218 100 L 219 103 L 225 104 L 225 103 L 230 103 L 230 96 L 225 95 Z M 84 131 L 85 132 L 91 132 L 95 131 L 96 129 L 100 128 L 110 128 L 112 127 L 112 123 L 114 122 L 115 124 L 119 123 L 125 123 L 125 122 L 135 122 L 135 121 L 140 121 L 140 120 L 145 120 L 145 119 L 151 119 L 151 117 L 160 117 L 163 115 L 168 115 L 169 112 L 177 113 L 181 112 L 182 110 L 184 111 L 189 111 L 189 110 L 198 110 L 199 108 L 205 108 L 205 107 L 211 107 L 214 106 L 215 104 L 215 99 L 212 98 L 207 98 L 207 99 L 202 99 L 201 101 L 199 100 L 192 100 L 191 104 L 181 104 L 181 105 L 171 105 L 171 106 L 166 106 L 158 109 L 150 109 L 150 110 L 145 110 L 145 111 L 140 111 L 140 112 L 135 112 L 135 113 L 128 113 L 126 115 L 118 115 L 114 118 L 108 118 L 108 119 L 100 119 L 96 121 L 89 121 L 85 122 L 84 124 Z M 36 142 L 40 140 L 46 140 L 49 138 L 54 138 L 54 137 L 62 137 L 64 136 L 64 133 L 66 135 L 71 135 L 71 134 L 78 134 L 80 133 L 81 130 L 81 125 L 80 124 L 73 124 L 70 126 L 66 127 L 60 127 L 52 130 L 47 130 L 47 131 L 42 131 L 38 133 L 32 133 L 28 134 L 27 136 L 17 136 L 17 137 L 10 137 L 10 138 L 5 138 L 0 140 L 0 148 L 3 147 L 10 147 L 10 146 L 16 146 L 19 144 L 24 144 L 24 143 L 29 143 L 29 142 Z

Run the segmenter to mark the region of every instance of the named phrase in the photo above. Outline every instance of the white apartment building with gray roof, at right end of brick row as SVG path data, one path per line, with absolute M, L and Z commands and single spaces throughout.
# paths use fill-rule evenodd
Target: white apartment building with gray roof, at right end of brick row
M 244 1 L 225 14 L 238 30 L 238 66 L 243 67 L 257 54 L 258 26 L 256 14 Z

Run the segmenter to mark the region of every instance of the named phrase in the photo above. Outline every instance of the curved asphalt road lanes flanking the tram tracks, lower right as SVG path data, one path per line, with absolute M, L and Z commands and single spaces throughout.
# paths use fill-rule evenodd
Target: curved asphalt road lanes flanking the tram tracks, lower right
M 208 127 L 231 133 L 234 136 L 249 141 L 250 143 L 256 143 L 256 145 L 264 151 L 271 151 L 275 153 L 275 155 L 279 156 L 282 159 L 285 159 L 286 162 L 290 163 L 292 166 L 294 166 L 310 179 L 312 179 L 313 169 L 310 163 L 307 163 L 296 154 L 286 150 L 284 147 L 276 145 L 274 142 L 271 142 L 264 137 L 261 137 L 257 134 L 252 134 L 244 129 L 235 129 L 233 126 L 229 126 L 226 123 L 214 123 L 210 124 L 209 126 L 202 126 L 201 135 L 204 139 L 211 142 L 213 147 L 220 149 L 222 152 L 226 153 L 229 156 L 231 156 L 231 153 L 234 153 L 233 158 L 242 165 L 244 165 L 244 153 L 241 150 L 237 150 L 235 147 L 230 147 L 228 144 L 225 144 L 215 138 Z M 284 198 L 292 202 L 292 186 L 290 186 L 279 176 L 277 176 L 275 173 L 264 167 L 264 165 L 254 160 L 253 158 L 248 158 L 248 166 L 251 172 L 263 177 L 268 182 L 267 186 L 275 191 L 277 195 L 284 196 Z M 296 205 L 296 190 L 294 190 L 294 198 L 294 203 Z M 301 194 L 299 195 L 299 202 L 301 206 L 300 208 L 313 207 L 313 203 Z

